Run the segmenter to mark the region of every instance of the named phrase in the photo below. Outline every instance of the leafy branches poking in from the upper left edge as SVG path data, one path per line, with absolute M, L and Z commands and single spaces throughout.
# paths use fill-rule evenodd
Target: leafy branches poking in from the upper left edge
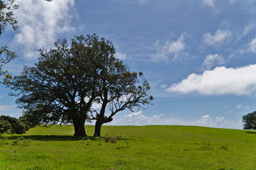
M 14 30 L 17 29 L 17 20 L 13 10 L 19 8 L 19 5 L 14 4 L 14 2 L 15 0 L 0 0 L 0 36 L 3 34 L 7 25 L 11 25 Z M 11 77 L 8 71 L 3 70 L 3 66 L 15 57 L 17 55 L 15 52 L 10 51 L 8 46 L 0 47 L 0 76 L 3 82 L 8 81 Z

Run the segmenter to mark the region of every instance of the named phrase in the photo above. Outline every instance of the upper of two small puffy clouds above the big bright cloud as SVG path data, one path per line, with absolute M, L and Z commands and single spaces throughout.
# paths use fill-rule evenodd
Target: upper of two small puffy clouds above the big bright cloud
M 206 33 L 203 37 L 203 42 L 206 45 L 216 45 L 220 46 L 223 43 L 227 43 L 232 39 L 232 32 L 226 30 L 218 29 L 215 34 Z

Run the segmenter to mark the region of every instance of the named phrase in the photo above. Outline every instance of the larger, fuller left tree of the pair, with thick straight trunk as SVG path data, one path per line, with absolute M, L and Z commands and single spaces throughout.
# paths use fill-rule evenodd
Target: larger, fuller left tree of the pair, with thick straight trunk
M 84 122 L 100 92 L 97 74 L 100 59 L 113 55 L 113 46 L 105 39 L 77 36 L 68 47 L 67 40 L 56 48 L 41 49 L 38 63 L 24 67 L 8 85 L 19 96 L 17 104 L 24 117 L 34 124 L 74 124 L 74 136 L 86 136 Z

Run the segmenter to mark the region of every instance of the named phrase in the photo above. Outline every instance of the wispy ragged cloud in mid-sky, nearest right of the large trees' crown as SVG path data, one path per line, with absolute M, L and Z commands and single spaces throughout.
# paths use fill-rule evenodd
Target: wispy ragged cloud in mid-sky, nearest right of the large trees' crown
M 177 41 L 165 41 L 163 45 L 159 41 L 156 41 L 154 47 L 157 51 L 153 55 L 154 61 L 168 61 L 171 56 L 173 60 L 177 60 L 180 53 L 186 48 L 184 34 L 181 34 Z

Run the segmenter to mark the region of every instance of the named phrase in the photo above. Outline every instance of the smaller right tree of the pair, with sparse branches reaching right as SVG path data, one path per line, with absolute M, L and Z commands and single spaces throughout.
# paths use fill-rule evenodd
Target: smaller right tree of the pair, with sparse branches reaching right
M 145 109 L 145 104 L 150 104 L 153 97 L 148 94 L 150 90 L 148 81 L 145 80 L 140 72 L 130 72 L 122 61 L 117 59 L 106 59 L 99 74 L 100 97 L 96 101 L 100 104 L 100 109 L 91 108 L 91 119 L 96 120 L 95 132 L 93 136 L 100 136 L 100 129 L 103 124 L 111 122 L 113 116 L 119 111 L 128 109 L 132 112 L 133 108 Z M 106 115 L 106 109 L 108 108 Z

